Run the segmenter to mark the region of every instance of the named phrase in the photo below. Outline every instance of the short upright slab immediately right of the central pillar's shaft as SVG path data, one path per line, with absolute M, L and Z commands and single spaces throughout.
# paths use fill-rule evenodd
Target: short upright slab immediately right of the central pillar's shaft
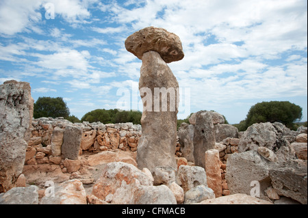
M 192 124 L 181 123 L 177 131 L 181 153 L 186 160 L 194 162 L 194 126 Z

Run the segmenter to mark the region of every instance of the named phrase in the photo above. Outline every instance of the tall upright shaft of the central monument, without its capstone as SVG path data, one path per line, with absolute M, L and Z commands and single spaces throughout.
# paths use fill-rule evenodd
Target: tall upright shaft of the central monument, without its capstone
M 156 166 L 170 166 L 176 168 L 175 147 L 177 144 L 177 100 L 179 83 L 170 68 L 159 53 L 149 51 L 142 56 L 139 90 L 146 88 L 151 93 L 142 96 L 143 112 L 141 118 L 142 136 L 137 148 L 137 163 L 139 169 L 144 167 L 153 171 Z M 152 99 L 155 87 L 170 88 L 174 94 L 166 101 L 159 97 L 159 104 L 166 105 L 166 111 L 159 107 L 155 111 L 155 102 Z M 158 105 L 159 106 L 159 105 Z M 174 109 L 172 110 L 172 106 Z

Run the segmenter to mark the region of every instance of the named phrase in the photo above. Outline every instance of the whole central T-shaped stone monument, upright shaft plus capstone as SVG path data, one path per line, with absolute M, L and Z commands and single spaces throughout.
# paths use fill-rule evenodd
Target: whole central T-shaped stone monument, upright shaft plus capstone
M 138 168 L 177 169 L 177 112 L 179 83 L 166 63 L 183 58 L 181 41 L 166 29 L 146 27 L 125 41 L 127 51 L 142 59 L 139 90 L 143 103 L 142 136 L 137 149 Z

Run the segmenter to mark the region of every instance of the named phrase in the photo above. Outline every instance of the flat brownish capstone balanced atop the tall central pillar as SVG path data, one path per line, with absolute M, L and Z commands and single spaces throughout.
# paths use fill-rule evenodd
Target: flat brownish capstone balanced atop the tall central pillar
M 146 27 L 131 34 L 125 40 L 125 48 L 139 59 L 147 51 L 156 51 L 166 63 L 177 62 L 184 57 L 179 36 L 157 27 Z

